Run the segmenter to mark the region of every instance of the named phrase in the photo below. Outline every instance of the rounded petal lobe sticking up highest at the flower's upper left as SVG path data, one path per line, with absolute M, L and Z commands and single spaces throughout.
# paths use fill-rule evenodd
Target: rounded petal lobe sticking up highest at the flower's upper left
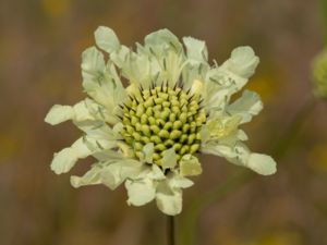
M 96 29 L 95 40 L 97 46 L 108 53 L 111 53 L 120 48 L 120 42 L 116 33 L 106 26 L 99 26 Z

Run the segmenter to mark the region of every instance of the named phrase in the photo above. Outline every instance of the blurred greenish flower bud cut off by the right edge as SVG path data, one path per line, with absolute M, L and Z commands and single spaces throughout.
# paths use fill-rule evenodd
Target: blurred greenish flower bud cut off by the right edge
M 327 50 L 322 51 L 313 62 L 314 95 L 327 98 Z

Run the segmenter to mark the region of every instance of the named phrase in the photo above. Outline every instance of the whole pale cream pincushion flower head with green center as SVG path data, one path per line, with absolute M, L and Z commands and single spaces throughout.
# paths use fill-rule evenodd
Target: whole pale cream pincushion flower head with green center
M 183 46 L 168 29 L 147 35 L 135 51 L 108 27 L 99 27 L 95 40 L 97 47 L 82 54 L 87 98 L 56 105 L 46 117 L 52 125 L 71 120 L 83 132 L 55 154 L 57 174 L 78 159 L 96 159 L 83 176 L 71 177 L 74 187 L 114 189 L 124 183 L 128 204 L 156 200 L 162 212 L 174 216 L 182 210 L 182 188 L 193 184 L 189 177 L 202 173 L 199 152 L 259 174 L 275 173 L 272 158 L 251 152 L 240 128 L 262 110 L 258 95 L 245 90 L 231 102 L 259 62 L 252 48 L 237 48 L 221 65 L 210 65 L 204 41 L 184 37 Z

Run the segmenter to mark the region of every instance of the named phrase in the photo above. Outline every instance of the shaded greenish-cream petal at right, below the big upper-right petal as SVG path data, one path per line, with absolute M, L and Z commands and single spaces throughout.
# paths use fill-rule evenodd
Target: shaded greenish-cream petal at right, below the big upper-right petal
M 242 117 L 241 123 L 246 123 L 252 120 L 253 115 L 258 114 L 263 107 L 263 102 L 256 93 L 244 90 L 242 97 L 228 106 L 227 110 L 231 114 L 240 114 Z

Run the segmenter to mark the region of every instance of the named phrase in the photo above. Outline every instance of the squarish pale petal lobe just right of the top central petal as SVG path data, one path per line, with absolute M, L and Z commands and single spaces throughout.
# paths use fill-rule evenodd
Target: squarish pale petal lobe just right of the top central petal
M 187 58 L 192 63 L 207 62 L 208 50 L 206 44 L 193 37 L 184 37 L 183 42 L 186 47 Z

